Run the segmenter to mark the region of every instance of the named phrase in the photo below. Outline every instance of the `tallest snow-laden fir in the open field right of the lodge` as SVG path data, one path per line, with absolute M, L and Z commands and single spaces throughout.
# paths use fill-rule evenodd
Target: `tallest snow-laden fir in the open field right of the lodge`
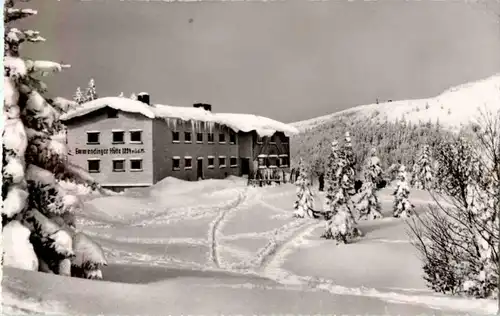
M 338 142 L 332 142 L 332 152 L 328 156 L 325 175 L 324 214 L 327 218 L 326 229 L 322 237 L 334 239 L 337 243 L 349 243 L 361 235 L 351 210 L 347 207 L 344 185 L 350 177 L 350 166 Z

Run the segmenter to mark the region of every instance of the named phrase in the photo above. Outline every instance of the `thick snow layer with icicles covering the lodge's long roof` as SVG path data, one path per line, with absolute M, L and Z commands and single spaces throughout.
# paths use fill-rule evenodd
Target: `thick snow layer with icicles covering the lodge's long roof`
M 285 135 L 297 134 L 299 131 L 288 124 L 267 117 L 252 114 L 213 113 L 203 108 L 180 107 L 171 105 L 147 105 L 143 102 L 122 97 L 106 97 L 82 104 L 80 107 L 61 115 L 61 120 L 67 121 L 85 116 L 96 110 L 110 107 L 116 110 L 142 114 L 148 118 L 181 119 L 183 121 L 202 121 L 226 125 L 236 132 L 256 131 L 260 136 L 271 136 L 275 132 Z

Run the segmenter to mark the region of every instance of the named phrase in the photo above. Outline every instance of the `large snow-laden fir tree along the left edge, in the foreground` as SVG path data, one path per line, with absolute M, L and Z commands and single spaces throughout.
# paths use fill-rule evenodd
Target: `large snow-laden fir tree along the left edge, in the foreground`
M 81 203 L 60 185 L 69 180 L 97 186 L 66 159 L 59 116 L 76 103 L 45 98 L 46 85 L 38 78 L 69 65 L 21 58 L 22 43 L 45 39 L 11 26 L 35 14 L 14 8 L 13 0 L 5 2 L 2 260 L 21 269 L 67 276 L 81 270 L 85 277 L 99 278 L 106 258 L 99 245 L 75 230 Z

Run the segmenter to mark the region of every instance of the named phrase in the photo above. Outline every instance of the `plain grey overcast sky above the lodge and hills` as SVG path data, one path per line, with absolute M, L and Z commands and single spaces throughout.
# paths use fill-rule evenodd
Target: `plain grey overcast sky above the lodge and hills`
M 500 2 L 493 0 L 498 10 Z M 37 7 L 38 6 L 38 7 Z M 466 1 L 32 1 L 44 44 L 26 54 L 72 68 L 50 79 L 70 97 L 146 91 L 161 104 L 285 122 L 376 98 L 434 96 L 500 72 L 500 27 Z

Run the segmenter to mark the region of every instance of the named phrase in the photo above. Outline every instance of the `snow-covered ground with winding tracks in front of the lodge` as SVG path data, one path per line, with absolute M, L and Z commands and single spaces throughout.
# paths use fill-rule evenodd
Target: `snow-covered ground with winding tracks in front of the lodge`
M 381 192 L 390 216 L 391 189 Z M 323 222 L 295 219 L 295 187 L 240 178 L 184 182 L 85 203 L 78 226 L 105 249 L 105 281 L 5 267 L 3 315 L 486 315 L 496 302 L 435 294 L 402 219 L 365 221 L 335 246 Z M 430 201 L 414 191 L 420 208 Z M 322 205 L 322 196 L 316 205 Z

